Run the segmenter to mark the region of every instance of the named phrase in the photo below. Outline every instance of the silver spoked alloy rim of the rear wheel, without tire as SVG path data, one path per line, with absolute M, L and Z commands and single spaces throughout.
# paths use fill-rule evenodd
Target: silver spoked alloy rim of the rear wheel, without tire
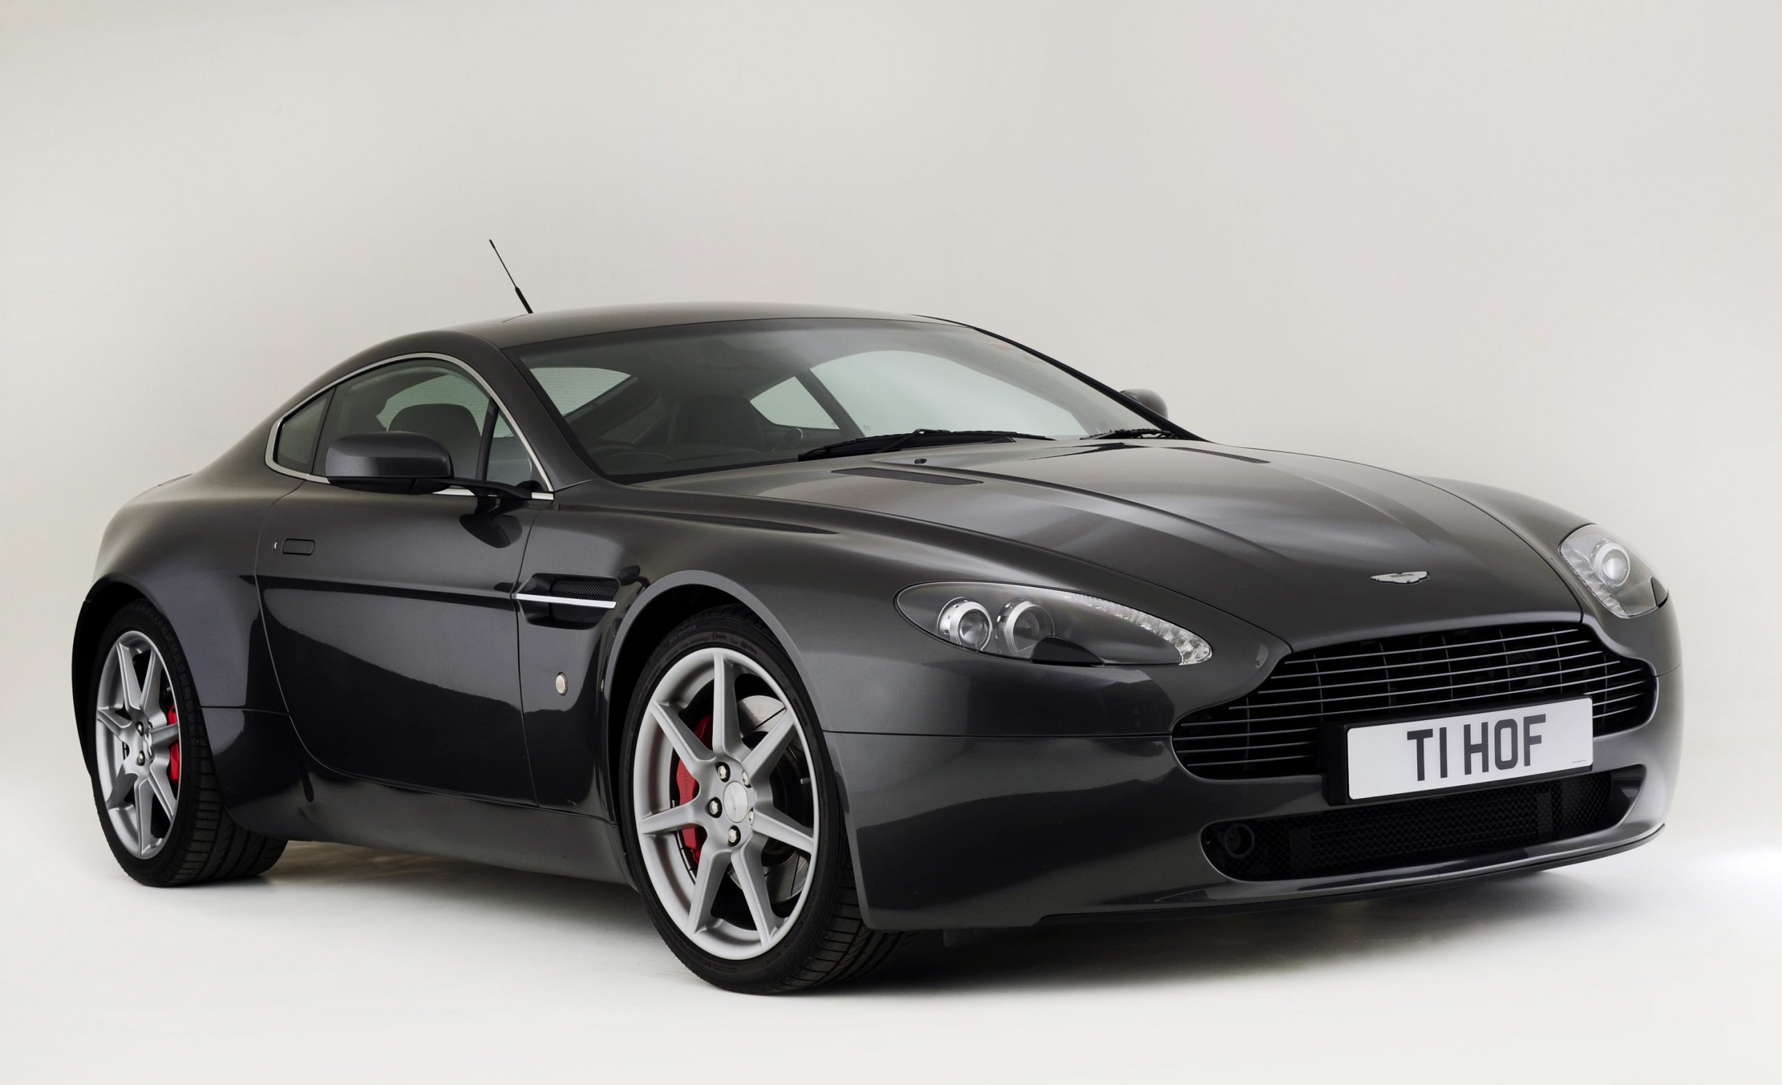
M 130 629 L 105 654 L 93 720 L 93 768 L 112 834 L 137 859 L 168 844 L 180 809 L 180 711 L 155 641 Z

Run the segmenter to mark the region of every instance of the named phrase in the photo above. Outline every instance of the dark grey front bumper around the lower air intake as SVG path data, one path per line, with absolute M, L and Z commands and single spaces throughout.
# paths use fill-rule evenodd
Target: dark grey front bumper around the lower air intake
M 1663 827 L 1675 789 L 1682 672 L 1659 677 L 1647 723 L 1595 739 L 1593 771 L 1645 773 L 1614 825 L 1508 852 L 1319 878 L 1226 877 L 1201 837 L 1221 821 L 1331 811 L 1322 777 L 1203 780 L 1180 766 L 1167 734 L 830 732 L 825 739 L 845 780 L 868 925 L 1032 926 L 1415 889 L 1639 844 Z

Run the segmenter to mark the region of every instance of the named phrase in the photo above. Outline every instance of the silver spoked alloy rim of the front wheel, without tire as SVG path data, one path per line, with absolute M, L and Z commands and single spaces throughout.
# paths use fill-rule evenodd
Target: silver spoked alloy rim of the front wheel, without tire
M 649 691 L 631 812 L 650 891 L 700 950 L 747 960 L 793 928 L 816 862 L 816 786 L 791 700 L 741 652 L 688 652 Z

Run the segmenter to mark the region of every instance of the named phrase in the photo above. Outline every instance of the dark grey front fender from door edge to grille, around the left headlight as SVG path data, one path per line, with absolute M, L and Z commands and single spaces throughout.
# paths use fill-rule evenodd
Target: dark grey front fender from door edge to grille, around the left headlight
M 759 508 L 759 506 L 757 506 Z M 834 513 L 804 524 L 691 511 L 558 508 L 527 543 L 531 577 L 608 577 L 593 627 L 522 622 L 522 700 L 538 798 L 611 816 L 627 682 L 695 609 L 741 602 L 779 638 L 825 732 L 994 736 L 1167 734 L 1183 711 L 1230 700 L 1287 645 L 1231 615 L 1112 570 L 943 527 Z M 1066 586 L 1194 629 L 1214 659 L 1178 668 L 996 659 L 916 629 L 896 595 L 928 581 Z M 691 608 L 691 609 L 688 609 Z M 565 693 L 554 688 L 565 675 Z

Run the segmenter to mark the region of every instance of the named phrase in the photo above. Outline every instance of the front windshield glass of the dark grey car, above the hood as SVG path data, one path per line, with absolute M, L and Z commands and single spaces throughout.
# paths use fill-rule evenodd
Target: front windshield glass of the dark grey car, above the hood
M 1151 426 L 1123 399 L 957 324 L 683 324 L 513 356 L 601 474 L 627 481 L 797 460 L 914 429 L 1062 438 Z

